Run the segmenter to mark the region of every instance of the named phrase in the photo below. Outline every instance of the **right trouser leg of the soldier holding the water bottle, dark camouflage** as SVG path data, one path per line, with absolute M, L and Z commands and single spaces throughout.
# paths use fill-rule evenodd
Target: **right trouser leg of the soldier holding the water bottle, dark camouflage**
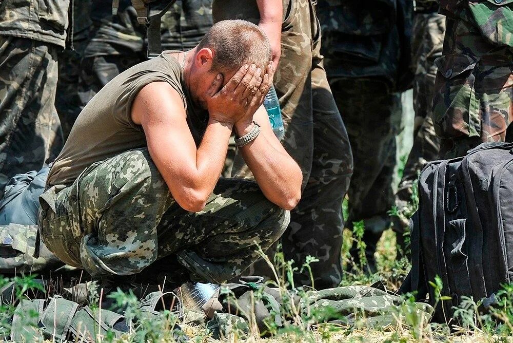
M 324 289 L 338 286 L 342 279 L 342 200 L 352 175 L 352 154 L 317 49 L 313 61 L 312 166 L 282 246 L 286 260 L 304 263 L 308 255 L 319 259 L 311 264 L 312 276 L 315 288 Z M 294 280 L 298 285 L 311 283 L 307 273 L 298 273 Z

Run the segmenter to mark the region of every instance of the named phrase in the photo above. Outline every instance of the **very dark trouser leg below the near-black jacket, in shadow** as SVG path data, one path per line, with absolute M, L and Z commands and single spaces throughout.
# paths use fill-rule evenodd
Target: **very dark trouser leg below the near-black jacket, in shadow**
M 387 212 L 393 205 L 398 130 L 392 119 L 401 109 L 401 97 L 379 79 L 336 79 L 331 87 L 347 127 L 354 160 L 346 226 L 352 228 L 353 222 L 363 220 L 365 230 L 379 238 L 390 225 Z M 370 249 L 375 245 L 368 245 L 367 255 L 373 256 Z

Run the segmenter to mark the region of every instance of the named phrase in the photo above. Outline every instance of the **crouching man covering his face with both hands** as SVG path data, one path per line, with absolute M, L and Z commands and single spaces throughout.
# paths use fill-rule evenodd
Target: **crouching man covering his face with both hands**
M 269 61 L 257 26 L 224 21 L 192 50 L 165 51 L 109 82 L 40 197 L 48 249 L 93 276 L 166 268 L 167 257 L 193 281 L 241 274 L 282 235 L 301 194 L 301 170 L 261 106 Z M 219 178 L 232 130 L 257 182 Z

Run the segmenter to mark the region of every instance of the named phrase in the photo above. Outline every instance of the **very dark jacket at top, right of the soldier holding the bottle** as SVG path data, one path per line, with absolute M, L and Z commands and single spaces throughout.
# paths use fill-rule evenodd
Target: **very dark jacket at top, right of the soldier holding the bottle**
M 382 77 L 408 88 L 413 4 L 406 0 L 326 0 L 318 3 L 322 54 L 329 77 Z

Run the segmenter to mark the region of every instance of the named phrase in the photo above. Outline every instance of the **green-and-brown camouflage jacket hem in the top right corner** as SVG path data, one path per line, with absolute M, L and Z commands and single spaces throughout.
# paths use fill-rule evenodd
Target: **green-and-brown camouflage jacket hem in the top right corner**
M 439 13 L 464 20 L 488 43 L 513 50 L 513 0 L 440 0 Z

